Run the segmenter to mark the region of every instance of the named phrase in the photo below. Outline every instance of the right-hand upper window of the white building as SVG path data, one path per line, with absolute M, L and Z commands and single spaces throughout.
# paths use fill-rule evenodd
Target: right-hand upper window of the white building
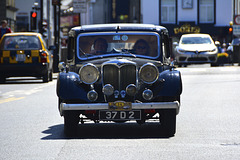
M 199 0 L 200 23 L 214 23 L 214 0 Z

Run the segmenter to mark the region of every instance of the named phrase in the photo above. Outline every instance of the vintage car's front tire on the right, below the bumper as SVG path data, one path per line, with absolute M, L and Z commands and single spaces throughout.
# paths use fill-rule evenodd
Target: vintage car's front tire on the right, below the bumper
M 160 123 L 163 134 L 172 137 L 176 133 L 176 110 L 166 109 L 160 112 Z

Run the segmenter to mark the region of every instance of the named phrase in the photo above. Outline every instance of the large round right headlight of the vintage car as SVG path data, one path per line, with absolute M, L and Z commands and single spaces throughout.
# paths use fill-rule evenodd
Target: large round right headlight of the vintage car
M 147 63 L 140 68 L 139 76 L 143 82 L 152 84 L 158 79 L 159 72 L 154 64 Z

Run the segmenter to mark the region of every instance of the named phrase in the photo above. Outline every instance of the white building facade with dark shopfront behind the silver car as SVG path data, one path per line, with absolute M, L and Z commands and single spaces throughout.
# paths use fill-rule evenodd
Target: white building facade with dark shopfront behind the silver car
M 165 26 L 176 40 L 186 33 L 208 33 L 214 40 L 230 42 L 229 27 L 237 1 L 141 0 L 142 23 Z

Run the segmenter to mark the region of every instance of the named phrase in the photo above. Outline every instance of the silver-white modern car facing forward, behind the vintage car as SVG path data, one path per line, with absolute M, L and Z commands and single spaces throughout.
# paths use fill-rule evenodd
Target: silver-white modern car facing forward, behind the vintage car
M 176 63 L 181 65 L 217 62 L 218 49 L 209 34 L 184 34 L 175 52 Z

